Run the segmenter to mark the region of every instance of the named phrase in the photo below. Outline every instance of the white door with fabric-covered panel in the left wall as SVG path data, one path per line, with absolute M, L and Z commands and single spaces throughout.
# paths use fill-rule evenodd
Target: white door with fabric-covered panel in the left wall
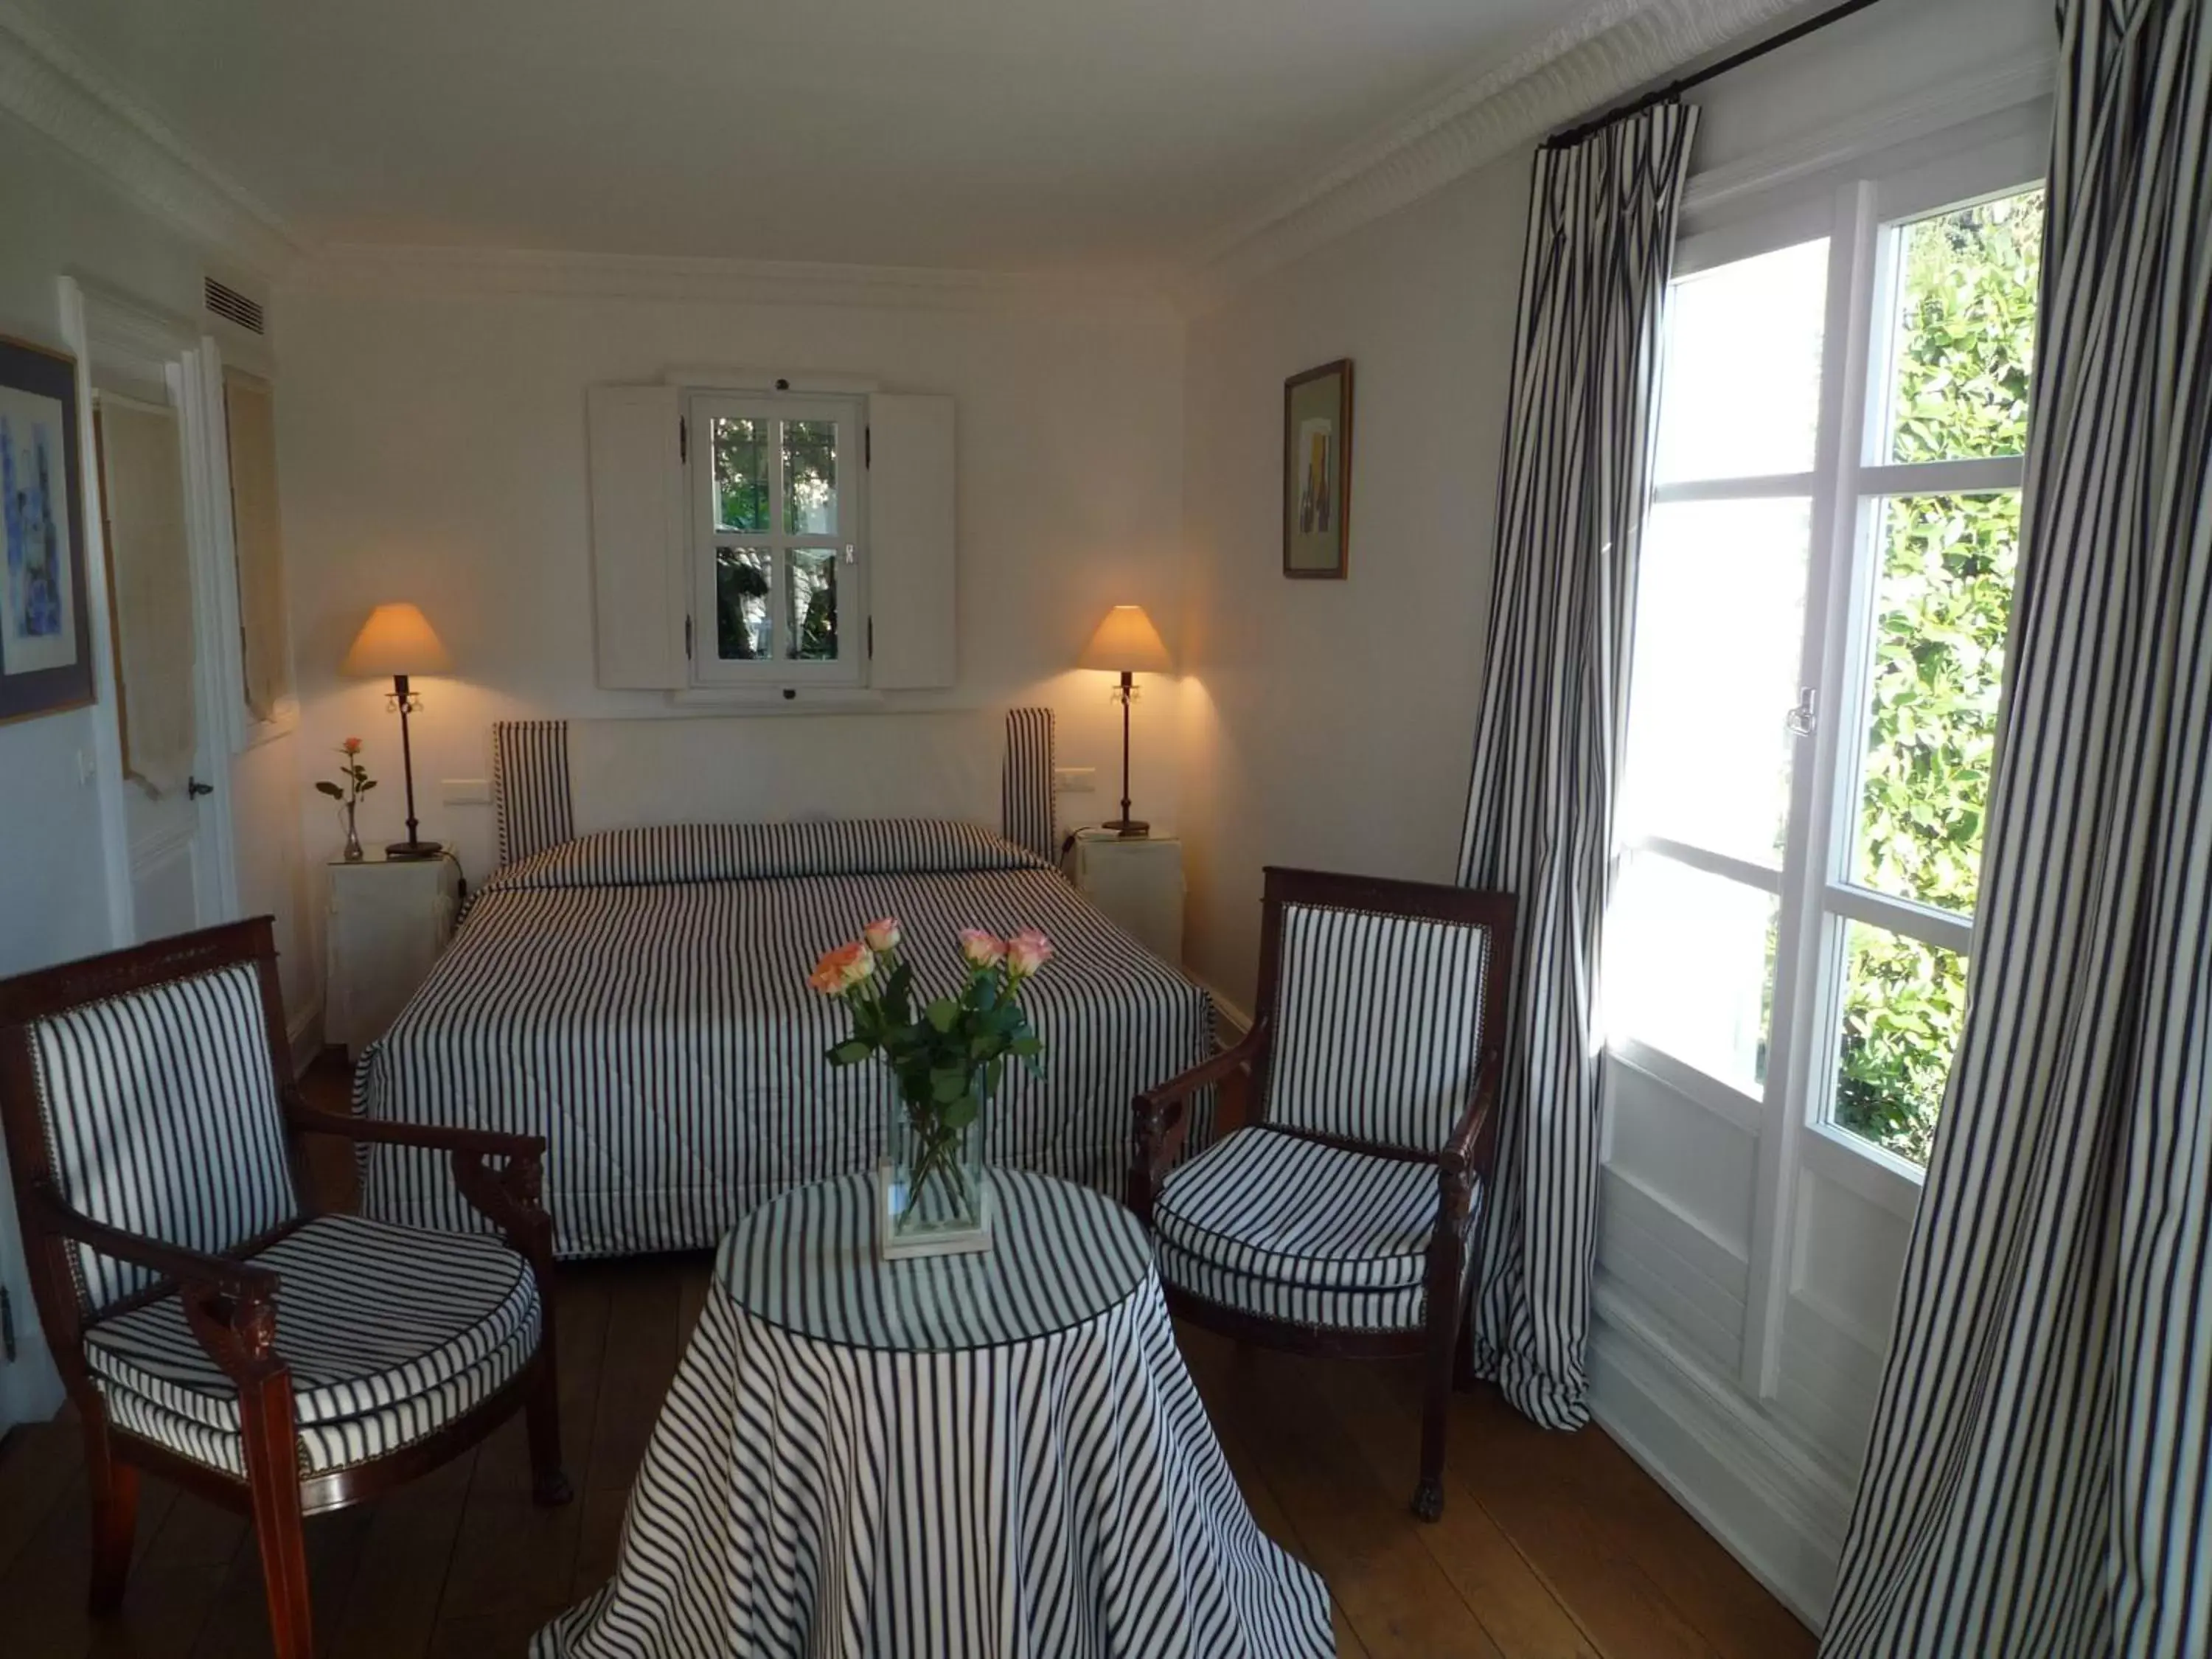
M 177 409 L 102 389 L 95 394 L 95 436 L 115 599 L 133 931 L 148 940 L 219 920 L 204 799 L 228 776 L 228 765 L 217 765 L 215 723 L 199 708 L 199 626 Z

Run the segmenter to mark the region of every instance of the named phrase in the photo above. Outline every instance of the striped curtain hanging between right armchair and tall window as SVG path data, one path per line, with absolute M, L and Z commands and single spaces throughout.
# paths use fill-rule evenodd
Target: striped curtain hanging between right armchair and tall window
M 1535 159 L 1460 880 L 1517 898 L 1475 1369 L 1579 1427 L 1597 1250 L 1597 931 L 1628 708 L 1659 312 L 1697 108 Z

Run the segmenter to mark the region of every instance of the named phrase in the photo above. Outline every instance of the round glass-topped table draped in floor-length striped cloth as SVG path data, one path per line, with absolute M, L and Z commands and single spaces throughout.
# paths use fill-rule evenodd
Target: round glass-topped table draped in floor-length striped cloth
M 1327 1590 L 1252 1520 L 1135 1217 L 993 1170 L 995 1248 L 876 1259 L 874 1177 L 721 1241 L 613 1579 L 533 1659 L 1323 1659 Z

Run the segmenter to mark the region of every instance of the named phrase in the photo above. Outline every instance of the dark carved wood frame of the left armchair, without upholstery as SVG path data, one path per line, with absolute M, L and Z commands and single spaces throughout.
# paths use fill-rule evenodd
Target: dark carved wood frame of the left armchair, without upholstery
M 102 1225 L 62 1201 L 40 1121 L 29 1033 L 33 1022 L 86 1002 L 241 962 L 252 962 L 261 980 L 270 1075 L 276 1079 L 279 1108 L 285 1119 L 301 1219 L 319 1214 L 305 1164 L 303 1139 L 307 1135 L 445 1150 L 451 1155 L 453 1181 L 462 1194 L 478 1214 L 500 1230 L 509 1245 L 529 1259 L 538 1279 L 540 1336 L 529 1365 L 491 1398 L 436 1433 L 383 1458 L 321 1475 L 301 1475 L 296 1462 L 292 1374 L 283 1358 L 276 1323 L 279 1274 L 246 1259 L 299 1230 L 301 1221 L 290 1221 L 248 1241 L 237 1256 L 212 1256 Z M 276 1655 L 279 1659 L 312 1659 L 314 1624 L 307 1604 L 307 1553 L 301 1535 L 305 1515 L 365 1502 L 436 1469 L 498 1429 L 518 1407 L 529 1416 L 533 1498 L 540 1504 L 564 1504 L 571 1498 L 571 1486 L 560 1458 L 560 1383 L 553 1358 L 551 1283 L 553 1221 L 540 1203 L 544 1139 L 369 1121 L 314 1110 L 290 1082 L 292 1062 L 283 1031 L 276 945 L 265 916 L 7 980 L 0 984 L 0 1130 L 7 1133 L 31 1296 L 38 1303 L 38 1316 L 53 1347 L 62 1383 L 84 1422 L 84 1460 L 93 1498 L 93 1610 L 106 1613 L 122 1601 L 137 1526 L 137 1471 L 146 1469 L 252 1517 Z M 69 1259 L 71 1243 L 148 1267 L 161 1274 L 161 1281 L 113 1307 L 84 1314 Z M 243 1480 L 192 1462 L 111 1422 L 106 1405 L 93 1387 L 84 1363 L 84 1332 L 170 1292 L 181 1296 L 186 1323 L 208 1358 L 239 1389 Z

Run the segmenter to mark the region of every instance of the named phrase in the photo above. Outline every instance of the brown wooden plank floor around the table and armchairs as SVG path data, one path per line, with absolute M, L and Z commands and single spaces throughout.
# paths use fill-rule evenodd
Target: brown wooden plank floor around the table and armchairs
M 343 1161 L 323 1166 L 343 1179 Z M 325 1655 L 520 1655 L 606 1579 L 622 1511 L 708 1256 L 562 1267 L 562 1431 L 577 1500 L 529 1502 L 520 1418 L 392 1498 L 307 1524 Z M 1183 1354 L 1261 1526 L 1336 1597 L 1367 1659 L 1792 1659 L 1814 1641 L 1628 1455 L 1590 1427 L 1531 1427 L 1495 1394 L 1455 1400 L 1444 1520 L 1407 1513 L 1416 1378 L 1183 1332 Z M 75 1427 L 0 1442 L 0 1655 L 268 1652 L 243 1520 L 146 1482 L 122 1613 L 84 1613 Z

